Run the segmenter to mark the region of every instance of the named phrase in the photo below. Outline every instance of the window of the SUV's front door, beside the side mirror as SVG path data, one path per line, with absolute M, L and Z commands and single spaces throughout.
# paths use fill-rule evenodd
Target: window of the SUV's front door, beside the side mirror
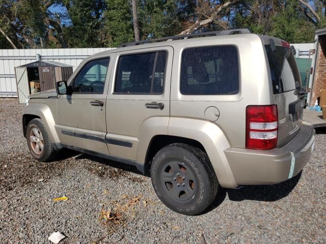
M 103 94 L 110 58 L 89 62 L 79 72 L 73 83 L 73 93 Z

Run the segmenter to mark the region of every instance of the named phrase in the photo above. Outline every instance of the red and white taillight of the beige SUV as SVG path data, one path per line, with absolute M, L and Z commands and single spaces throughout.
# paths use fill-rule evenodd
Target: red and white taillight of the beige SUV
M 248 106 L 246 109 L 246 148 L 273 149 L 277 145 L 276 105 Z

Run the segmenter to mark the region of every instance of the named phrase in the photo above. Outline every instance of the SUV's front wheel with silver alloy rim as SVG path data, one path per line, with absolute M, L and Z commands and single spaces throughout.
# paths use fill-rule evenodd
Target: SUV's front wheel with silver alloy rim
M 34 118 L 30 121 L 26 128 L 26 140 L 32 156 L 38 161 L 48 162 L 57 156 L 58 151 L 55 150 L 53 143 L 49 139 L 41 119 Z

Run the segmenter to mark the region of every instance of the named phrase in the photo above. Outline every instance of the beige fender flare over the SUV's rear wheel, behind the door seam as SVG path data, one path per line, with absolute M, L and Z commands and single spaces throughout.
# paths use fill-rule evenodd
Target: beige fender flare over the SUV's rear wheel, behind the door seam
M 238 186 L 224 154 L 230 143 L 216 124 L 207 120 L 171 117 L 168 134 L 200 142 L 206 150 L 220 185 L 225 188 Z

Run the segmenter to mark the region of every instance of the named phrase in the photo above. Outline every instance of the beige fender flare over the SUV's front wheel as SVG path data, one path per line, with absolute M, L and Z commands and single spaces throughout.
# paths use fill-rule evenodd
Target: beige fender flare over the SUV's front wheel
M 23 116 L 25 114 L 31 114 L 40 117 L 50 137 L 51 142 L 60 143 L 59 136 L 55 129 L 55 119 L 53 118 L 51 109 L 46 104 L 30 103 L 23 109 Z

